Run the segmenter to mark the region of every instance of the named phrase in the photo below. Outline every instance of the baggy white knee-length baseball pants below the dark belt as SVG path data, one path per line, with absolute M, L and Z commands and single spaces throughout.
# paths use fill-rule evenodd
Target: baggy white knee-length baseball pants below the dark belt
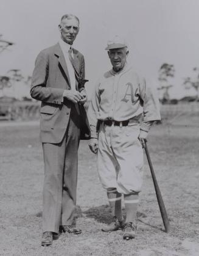
M 141 191 L 144 160 L 139 132 L 139 123 L 100 125 L 97 169 L 103 188 L 122 194 Z

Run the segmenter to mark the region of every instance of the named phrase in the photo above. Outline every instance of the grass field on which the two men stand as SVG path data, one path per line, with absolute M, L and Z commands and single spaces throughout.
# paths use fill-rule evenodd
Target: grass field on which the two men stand
M 163 232 L 145 159 L 136 240 L 122 231 L 101 232 L 111 219 L 88 142 L 79 149 L 78 226 L 82 235 L 61 235 L 41 247 L 43 153 L 37 123 L 0 124 L 0 255 L 199 255 L 199 130 L 192 126 L 153 126 L 148 148 L 171 230 Z M 125 214 L 125 211 L 124 211 Z

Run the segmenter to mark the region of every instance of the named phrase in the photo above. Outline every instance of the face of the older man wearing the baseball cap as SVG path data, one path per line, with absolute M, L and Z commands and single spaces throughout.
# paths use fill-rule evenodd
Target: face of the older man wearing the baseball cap
M 125 63 L 127 62 L 127 54 L 127 48 L 110 49 L 108 51 L 111 64 L 116 72 L 124 68 Z

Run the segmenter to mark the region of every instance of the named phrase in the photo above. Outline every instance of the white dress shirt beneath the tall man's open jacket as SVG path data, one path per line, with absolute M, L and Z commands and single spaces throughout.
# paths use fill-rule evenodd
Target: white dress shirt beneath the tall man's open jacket
M 72 49 L 71 45 L 68 45 L 68 43 L 65 43 L 62 39 L 59 40 L 59 44 L 61 47 L 61 50 L 63 51 L 63 55 L 65 56 L 65 60 L 66 60 L 66 65 L 68 68 L 68 73 L 69 73 L 69 79 L 71 82 L 71 90 L 76 90 L 75 89 L 75 72 L 74 72 L 74 68 L 72 67 L 71 61 L 69 59 L 69 49 Z M 71 55 L 73 56 L 73 49 L 71 51 Z

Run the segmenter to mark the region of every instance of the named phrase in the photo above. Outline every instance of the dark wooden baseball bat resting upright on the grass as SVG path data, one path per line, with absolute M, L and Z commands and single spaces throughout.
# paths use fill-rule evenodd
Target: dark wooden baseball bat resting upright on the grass
M 170 230 L 170 222 L 169 222 L 169 218 L 167 216 L 167 211 L 166 211 L 166 208 L 164 206 L 162 195 L 161 195 L 161 192 L 160 192 L 160 189 L 159 189 L 159 186 L 158 186 L 158 181 L 156 180 L 155 172 L 153 170 L 152 161 L 151 161 L 150 155 L 148 153 L 147 140 L 145 140 L 144 149 L 145 149 L 145 153 L 146 153 L 146 156 L 147 156 L 148 165 L 150 167 L 150 171 L 151 171 L 151 174 L 152 174 L 153 185 L 155 187 L 156 197 L 157 197 L 157 200 L 158 200 L 159 210 L 160 210 L 161 216 L 162 216 L 162 221 L 164 223 L 165 231 L 166 231 L 166 233 L 168 233 L 169 230 Z

